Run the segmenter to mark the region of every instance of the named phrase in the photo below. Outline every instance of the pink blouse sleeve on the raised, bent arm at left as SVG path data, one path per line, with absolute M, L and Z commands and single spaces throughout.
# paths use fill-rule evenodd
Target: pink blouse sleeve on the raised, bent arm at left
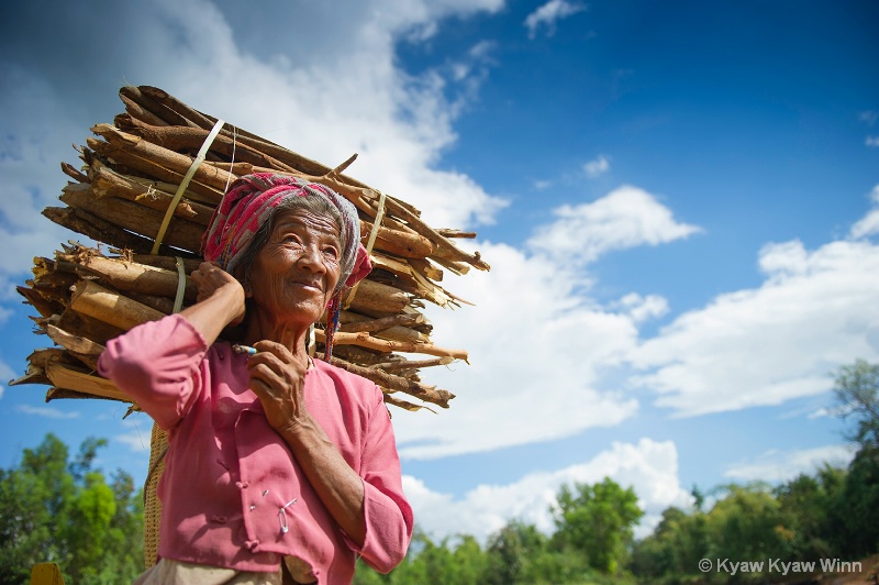
M 199 364 L 207 351 L 196 328 L 186 318 L 171 314 L 110 340 L 98 360 L 98 373 L 169 430 L 189 410 L 201 387 Z

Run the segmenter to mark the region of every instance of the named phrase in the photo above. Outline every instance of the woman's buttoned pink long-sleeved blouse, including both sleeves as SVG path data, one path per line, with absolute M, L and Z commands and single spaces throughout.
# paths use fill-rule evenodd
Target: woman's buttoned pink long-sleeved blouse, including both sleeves
M 158 484 L 158 554 L 240 571 L 277 572 L 281 555 L 311 565 L 320 583 L 351 582 L 357 555 L 387 573 L 412 537 L 412 508 L 381 390 L 314 361 L 305 375 L 311 416 L 364 482 L 366 539 L 336 525 L 247 388 L 247 356 L 207 346 L 179 314 L 110 341 L 98 363 L 168 432 Z

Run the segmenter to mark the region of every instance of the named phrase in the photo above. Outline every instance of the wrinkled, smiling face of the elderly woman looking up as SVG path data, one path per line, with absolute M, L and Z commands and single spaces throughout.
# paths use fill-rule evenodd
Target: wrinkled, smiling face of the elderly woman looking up
M 305 209 L 282 211 L 248 269 L 247 296 L 275 320 L 311 324 L 333 297 L 341 261 L 333 218 Z

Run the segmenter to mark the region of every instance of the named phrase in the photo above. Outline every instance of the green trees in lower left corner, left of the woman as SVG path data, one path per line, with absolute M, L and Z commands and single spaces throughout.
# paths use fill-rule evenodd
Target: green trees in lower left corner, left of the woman
M 0 583 L 30 583 L 36 563 L 57 563 L 66 583 L 131 583 L 143 572 L 143 495 L 119 471 L 92 464 L 103 439 L 68 461 L 54 434 L 0 470 Z

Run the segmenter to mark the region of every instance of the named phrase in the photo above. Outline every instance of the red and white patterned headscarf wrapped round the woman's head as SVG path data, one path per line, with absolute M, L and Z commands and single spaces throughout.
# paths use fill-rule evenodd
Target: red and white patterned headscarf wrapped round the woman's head
M 342 276 L 351 271 L 344 285 L 354 286 L 364 278 L 371 265 L 366 249 L 360 244 L 360 222 L 354 205 L 333 189 L 308 183 L 289 175 L 256 173 L 245 175 L 233 183 L 211 218 L 201 247 L 204 260 L 219 262 L 233 273 L 244 252 L 271 213 L 289 197 L 322 197 L 338 209 L 343 225 L 340 227 L 345 250 L 342 251 Z M 343 285 L 340 279 L 338 288 Z

